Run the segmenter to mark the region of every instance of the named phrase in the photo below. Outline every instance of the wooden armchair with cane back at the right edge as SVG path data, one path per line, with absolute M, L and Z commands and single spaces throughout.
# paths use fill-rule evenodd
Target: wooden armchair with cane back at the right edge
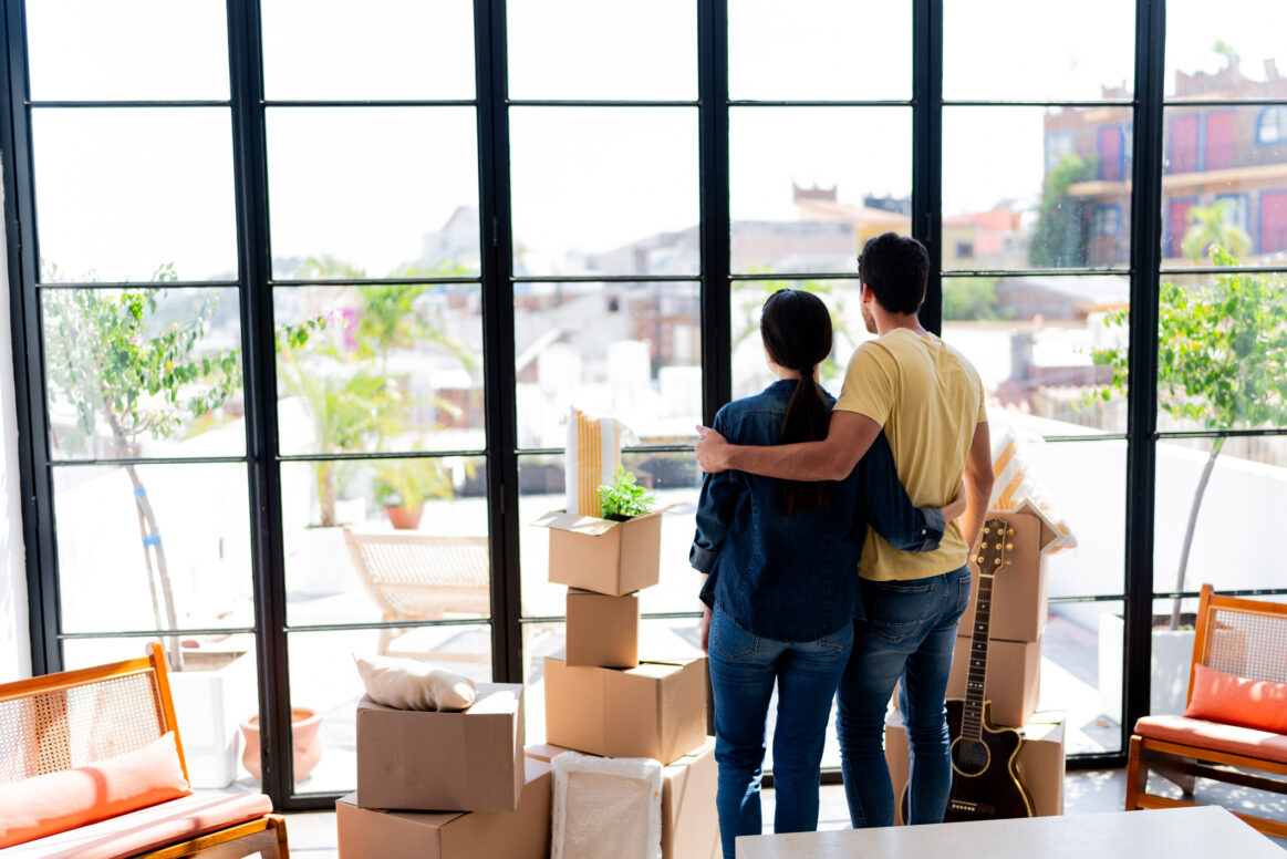
M 1203 585 L 1189 668 L 1189 712 L 1203 710 L 1193 703 L 1197 666 L 1239 679 L 1287 683 L 1287 605 L 1218 596 Z M 1281 688 L 1274 692 L 1281 693 Z M 1238 704 L 1229 698 L 1225 707 L 1237 710 Z M 1198 778 L 1287 795 L 1287 734 L 1250 726 L 1260 719 L 1255 710 L 1248 707 L 1245 716 L 1236 712 L 1227 721 L 1169 715 L 1140 719 L 1130 739 L 1126 810 L 1199 805 L 1192 801 Z M 1243 724 L 1236 724 L 1239 721 Z M 1184 798 L 1148 793 L 1149 770 L 1175 782 Z M 1287 837 L 1287 822 L 1234 814 L 1266 835 Z

